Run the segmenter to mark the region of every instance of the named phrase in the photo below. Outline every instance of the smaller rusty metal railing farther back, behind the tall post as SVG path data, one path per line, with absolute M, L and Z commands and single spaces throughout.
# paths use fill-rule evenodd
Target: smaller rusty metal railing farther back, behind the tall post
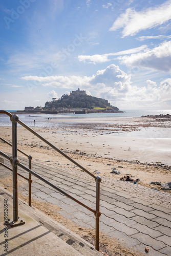
M 0 139 L 7 143 L 8 145 L 12 146 L 12 144 L 10 142 L 8 142 L 7 140 L 3 139 L 0 137 Z M 22 150 L 19 150 L 19 148 L 17 148 L 17 151 L 22 153 L 23 155 L 27 156 L 27 158 L 29 159 L 29 169 L 31 169 L 31 160 L 32 160 L 32 156 L 31 155 L 27 155 L 25 152 L 23 152 Z M 11 172 L 13 171 L 10 167 L 8 167 L 6 164 L 3 164 L 0 162 L 1 165 L 3 165 L 4 167 L 6 167 L 7 169 L 11 170 Z M 25 176 L 18 174 L 18 176 L 22 177 L 23 179 L 27 180 L 29 183 L 29 206 L 31 206 L 31 183 L 32 183 L 32 179 L 31 179 L 31 173 L 29 173 L 29 178 L 26 178 Z

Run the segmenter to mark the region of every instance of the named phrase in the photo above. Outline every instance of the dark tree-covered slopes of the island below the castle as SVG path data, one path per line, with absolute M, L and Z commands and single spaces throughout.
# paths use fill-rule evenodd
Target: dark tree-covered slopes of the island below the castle
M 52 101 L 47 101 L 45 103 L 44 110 L 52 109 L 110 109 L 118 111 L 119 109 L 116 106 L 112 106 L 108 100 L 93 97 L 90 95 L 62 95 L 58 100 L 53 99 Z

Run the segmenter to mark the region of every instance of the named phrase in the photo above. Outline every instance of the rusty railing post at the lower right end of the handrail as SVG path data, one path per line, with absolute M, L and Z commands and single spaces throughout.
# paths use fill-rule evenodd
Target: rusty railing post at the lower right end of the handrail
M 101 215 L 100 212 L 100 182 L 101 182 L 101 178 L 99 176 L 97 176 L 97 178 L 95 179 L 96 181 L 96 244 L 95 244 L 95 249 L 97 251 L 99 251 L 99 218 Z

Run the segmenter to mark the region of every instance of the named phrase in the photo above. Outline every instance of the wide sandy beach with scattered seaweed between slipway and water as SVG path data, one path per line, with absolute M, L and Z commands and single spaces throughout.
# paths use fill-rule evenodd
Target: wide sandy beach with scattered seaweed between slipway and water
M 161 186 L 149 183 L 171 181 L 170 119 L 115 117 L 110 123 L 105 118 L 62 119 L 57 124 L 55 120 L 47 120 L 46 127 L 36 127 L 36 122 L 34 131 L 90 172 L 99 172 L 101 177 L 119 179 L 128 174 L 133 179 L 139 178 L 139 185 L 158 189 Z M 12 142 L 10 126 L 1 126 L 0 131 L 2 138 Z M 22 126 L 17 127 L 17 140 L 18 148 L 36 161 L 53 166 L 70 164 L 72 169 L 79 169 Z M 4 142 L 0 148 L 12 152 Z M 121 174 L 111 173 L 113 168 Z

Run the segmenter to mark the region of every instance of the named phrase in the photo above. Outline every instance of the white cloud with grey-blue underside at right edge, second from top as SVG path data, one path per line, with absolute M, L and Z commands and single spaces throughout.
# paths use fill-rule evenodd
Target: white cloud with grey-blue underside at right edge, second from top
M 128 67 L 171 71 L 171 41 L 165 41 L 152 50 L 123 56 L 121 62 Z

